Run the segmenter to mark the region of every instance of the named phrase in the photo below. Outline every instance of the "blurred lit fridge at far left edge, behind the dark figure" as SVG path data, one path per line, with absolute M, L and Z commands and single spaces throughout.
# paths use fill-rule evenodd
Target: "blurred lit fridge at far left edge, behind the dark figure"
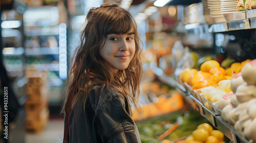
M 25 55 L 24 55 L 24 35 L 23 16 L 14 10 L 6 10 L 1 13 L 2 17 L 2 56 L 7 75 L 11 85 L 20 99 L 20 104 L 25 100 Z

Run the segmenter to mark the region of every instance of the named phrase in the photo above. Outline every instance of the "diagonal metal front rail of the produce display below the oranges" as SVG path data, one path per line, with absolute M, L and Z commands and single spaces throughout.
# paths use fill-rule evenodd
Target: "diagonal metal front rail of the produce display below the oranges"
M 176 87 L 179 90 L 185 91 L 184 92 L 184 99 L 188 101 L 188 103 L 194 107 L 202 116 L 207 118 L 207 120 L 212 123 L 214 127 L 219 129 L 225 136 L 227 136 L 232 142 L 234 143 L 251 143 L 248 140 L 246 140 L 243 136 L 238 134 L 236 131 L 234 131 L 229 125 L 223 122 L 221 116 L 219 114 L 215 114 L 208 110 L 203 104 L 197 100 L 194 96 L 192 96 L 191 91 L 186 90 L 185 87 L 183 87 L 181 84 L 179 84 L 175 79 L 172 77 L 168 77 L 166 75 L 161 75 L 159 76 L 159 80 L 169 84 L 170 86 L 173 86 L 173 84 L 170 83 L 175 83 Z

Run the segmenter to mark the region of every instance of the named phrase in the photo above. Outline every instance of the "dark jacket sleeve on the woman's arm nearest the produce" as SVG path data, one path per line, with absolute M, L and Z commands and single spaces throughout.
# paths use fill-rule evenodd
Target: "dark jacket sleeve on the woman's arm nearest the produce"
M 111 96 L 103 104 L 97 126 L 103 142 L 141 142 L 138 129 L 127 110 L 122 96 Z

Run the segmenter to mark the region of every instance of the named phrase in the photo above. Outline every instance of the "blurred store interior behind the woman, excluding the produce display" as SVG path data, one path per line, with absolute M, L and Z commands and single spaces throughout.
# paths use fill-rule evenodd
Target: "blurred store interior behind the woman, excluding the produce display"
M 120 4 L 137 21 L 145 56 L 142 81 L 154 80 L 151 71 L 159 68 L 156 74 L 173 76 L 171 53 L 177 40 L 199 56 L 218 53 L 220 60 L 229 55 L 238 62 L 256 58 L 255 30 L 209 33 L 221 19 L 205 16 L 200 0 L 167 0 L 158 7 L 155 0 L 1 0 L 0 79 L 8 87 L 12 113 L 9 139 L 0 142 L 62 142 L 60 110 L 70 58 L 86 13 L 106 2 Z M 43 120 L 36 122 L 38 116 Z

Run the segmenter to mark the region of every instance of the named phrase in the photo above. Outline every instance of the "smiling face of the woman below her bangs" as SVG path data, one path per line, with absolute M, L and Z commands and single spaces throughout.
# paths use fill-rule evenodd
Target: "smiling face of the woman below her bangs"
M 134 53 L 133 32 L 107 35 L 105 45 L 100 50 L 100 55 L 114 67 L 115 73 L 128 67 Z

